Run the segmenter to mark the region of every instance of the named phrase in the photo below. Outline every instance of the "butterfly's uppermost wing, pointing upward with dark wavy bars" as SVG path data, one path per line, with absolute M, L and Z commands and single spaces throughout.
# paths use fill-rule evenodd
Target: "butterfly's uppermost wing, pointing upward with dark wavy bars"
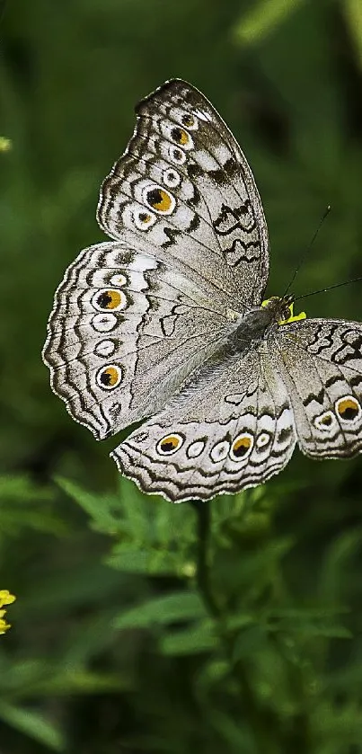
M 190 84 L 166 82 L 137 106 L 127 150 L 102 184 L 98 221 L 243 311 L 260 304 L 269 242 L 242 150 Z

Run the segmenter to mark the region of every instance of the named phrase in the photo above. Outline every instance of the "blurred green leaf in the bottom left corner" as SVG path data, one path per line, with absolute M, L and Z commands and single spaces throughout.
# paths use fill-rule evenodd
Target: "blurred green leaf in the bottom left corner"
M 34 710 L 0 702 L 0 718 L 17 731 L 48 746 L 53 751 L 65 751 L 66 740 L 53 724 Z

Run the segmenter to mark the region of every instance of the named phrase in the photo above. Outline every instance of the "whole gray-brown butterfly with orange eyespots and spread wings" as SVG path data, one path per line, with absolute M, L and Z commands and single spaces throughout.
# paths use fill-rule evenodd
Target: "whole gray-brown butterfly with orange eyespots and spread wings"
M 207 500 L 265 482 L 298 442 L 311 457 L 362 449 L 362 324 L 262 301 L 265 217 L 240 147 L 181 80 L 137 105 L 102 184 L 114 241 L 66 271 L 43 358 L 96 439 L 151 417 L 111 456 L 144 492 Z

